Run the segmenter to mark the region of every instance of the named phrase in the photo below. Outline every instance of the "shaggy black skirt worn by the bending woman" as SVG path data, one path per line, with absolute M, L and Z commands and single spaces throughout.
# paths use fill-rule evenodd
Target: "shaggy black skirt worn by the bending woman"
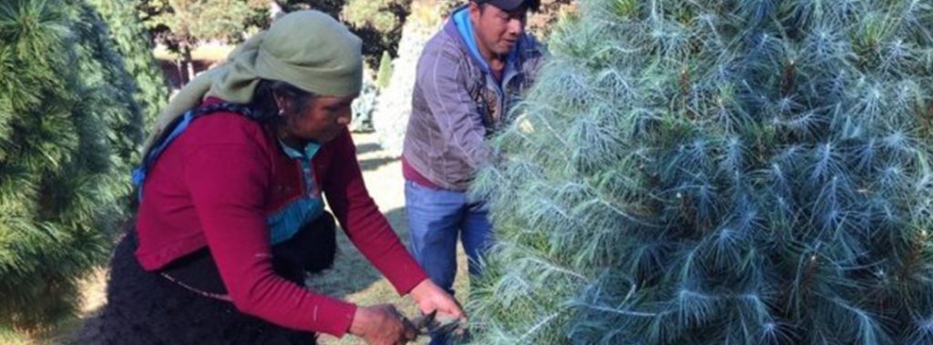
M 329 214 L 301 229 L 288 242 L 273 246 L 273 269 L 293 282 L 306 271 L 330 267 L 336 250 L 334 222 Z M 134 229 L 118 243 L 111 259 L 107 303 L 100 314 L 87 321 L 72 344 L 301 344 L 315 343 L 311 332 L 271 324 L 236 310 L 229 301 L 205 297 L 166 279 L 161 272 L 143 269 L 134 251 Z M 184 276 L 202 271 L 206 279 L 188 286 L 219 282 L 216 266 L 205 250 L 172 265 Z M 205 265 L 205 262 L 208 263 Z M 188 284 L 191 283 L 191 284 Z M 222 287 L 221 287 L 222 288 Z M 216 292 L 216 291 L 210 291 Z

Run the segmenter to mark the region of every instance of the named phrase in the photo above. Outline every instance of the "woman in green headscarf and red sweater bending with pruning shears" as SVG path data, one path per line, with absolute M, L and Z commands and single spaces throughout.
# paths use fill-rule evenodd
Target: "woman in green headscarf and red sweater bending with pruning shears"
M 425 313 L 463 319 L 369 198 L 347 131 L 360 40 L 316 11 L 286 15 L 192 81 L 147 145 L 135 227 L 112 258 L 108 303 L 81 343 L 312 344 L 345 333 L 405 343 L 391 305 L 303 288 L 329 266 L 334 223 Z

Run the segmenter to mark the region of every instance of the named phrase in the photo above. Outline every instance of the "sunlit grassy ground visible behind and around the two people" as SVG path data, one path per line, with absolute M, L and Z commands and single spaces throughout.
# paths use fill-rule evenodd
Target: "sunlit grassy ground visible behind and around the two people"
M 390 157 L 376 144 L 374 134 L 357 133 L 354 134 L 354 140 L 356 142 L 357 159 L 363 170 L 363 177 L 369 188 L 369 194 L 376 200 L 376 204 L 379 205 L 379 208 L 383 210 L 383 214 L 392 223 L 398 237 L 407 245 L 409 236 L 408 219 L 405 214 L 404 185 L 399 160 Z M 392 285 L 369 265 L 369 262 L 356 251 L 353 244 L 342 233 L 338 237 L 338 242 L 340 249 L 334 268 L 309 277 L 307 283 L 310 288 L 331 297 L 352 301 L 358 305 L 392 303 L 410 317 L 417 315 L 417 308 L 411 302 L 411 298 L 398 297 Z M 458 258 L 460 264 L 454 288 L 459 297 L 464 297 L 468 286 L 466 283 L 466 255 L 464 255 L 462 248 L 459 250 Z M 63 343 L 63 340 L 71 332 L 74 332 L 80 324 L 94 317 L 96 311 L 105 303 L 105 277 L 105 269 L 96 269 L 91 272 L 86 283 L 83 284 L 84 305 L 76 318 L 65 321 L 56 329 L 29 336 L 15 333 L 7 334 L 0 330 L 0 343 L 9 345 Z M 319 342 L 327 345 L 364 344 L 359 338 L 352 336 L 338 339 L 325 335 L 320 338 Z M 416 343 L 426 344 L 427 339 L 421 338 Z

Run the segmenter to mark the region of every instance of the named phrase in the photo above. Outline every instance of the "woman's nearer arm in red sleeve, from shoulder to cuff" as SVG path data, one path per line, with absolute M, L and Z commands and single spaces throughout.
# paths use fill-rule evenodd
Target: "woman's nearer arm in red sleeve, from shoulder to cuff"
M 196 125 L 188 131 L 198 131 Z M 272 270 L 263 214 L 272 177 L 270 159 L 258 148 L 256 135 L 261 133 L 228 128 L 225 122 L 216 125 L 225 130 L 220 138 L 205 135 L 202 144 L 187 152 L 184 181 L 234 305 L 273 324 L 341 337 L 350 328 L 355 305 L 313 294 Z

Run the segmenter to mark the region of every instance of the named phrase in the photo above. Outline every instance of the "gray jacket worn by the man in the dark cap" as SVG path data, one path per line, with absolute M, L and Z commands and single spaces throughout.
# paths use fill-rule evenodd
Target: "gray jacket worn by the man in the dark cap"
M 402 151 L 428 181 L 458 191 L 493 159 L 485 139 L 508 122 L 508 109 L 531 84 L 542 59 L 540 45 L 524 34 L 509 56 L 500 89 L 454 21 L 464 8 L 454 11 L 418 60 Z

